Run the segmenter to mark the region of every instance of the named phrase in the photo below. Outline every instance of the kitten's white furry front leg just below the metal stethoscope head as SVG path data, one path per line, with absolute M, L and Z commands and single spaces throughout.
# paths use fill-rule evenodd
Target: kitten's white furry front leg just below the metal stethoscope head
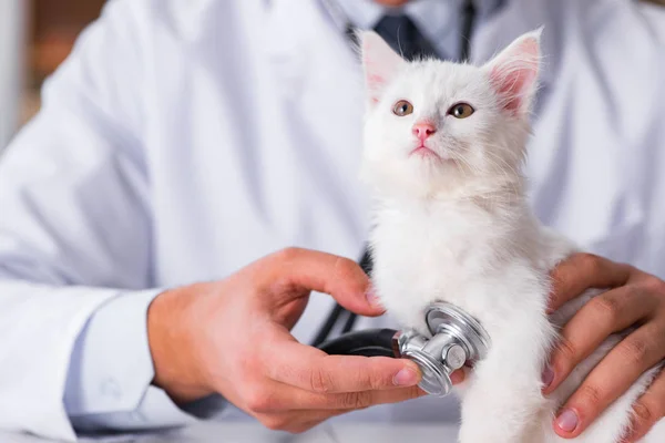
M 544 350 L 531 340 L 494 342 L 462 399 L 461 443 L 540 443 L 548 400 L 541 393 Z

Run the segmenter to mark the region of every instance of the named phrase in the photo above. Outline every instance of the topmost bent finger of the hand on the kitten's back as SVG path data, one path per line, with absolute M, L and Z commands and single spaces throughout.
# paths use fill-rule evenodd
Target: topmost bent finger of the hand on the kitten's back
M 615 288 L 625 285 L 631 267 L 592 254 L 576 254 L 552 271 L 549 310 L 553 312 L 589 288 Z

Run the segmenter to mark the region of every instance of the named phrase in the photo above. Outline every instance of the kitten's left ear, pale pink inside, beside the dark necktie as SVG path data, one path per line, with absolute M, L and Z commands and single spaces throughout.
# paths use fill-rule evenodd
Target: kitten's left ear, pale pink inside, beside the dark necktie
M 365 87 L 370 104 L 379 101 L 383 87 L 406 61 L 374 31 L 357 34 L 360 43 Z

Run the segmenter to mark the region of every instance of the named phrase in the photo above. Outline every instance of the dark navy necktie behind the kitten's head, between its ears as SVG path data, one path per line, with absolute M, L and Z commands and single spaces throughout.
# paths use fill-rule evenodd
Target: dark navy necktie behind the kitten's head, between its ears
M 375 27 L 375 31 L 407 60 L 441 58 L 407 16 L 385 16 Z

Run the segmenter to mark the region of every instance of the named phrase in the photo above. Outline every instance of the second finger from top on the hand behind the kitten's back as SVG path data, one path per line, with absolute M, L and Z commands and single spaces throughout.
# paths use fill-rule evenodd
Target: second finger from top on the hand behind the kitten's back
M 647 318 L 656 306 L 655 298 L 632 286 L 610 290 L 590 300 L 561 331 L 560 343 L 550 359 L 550 380 L 546 380 L 550 384 L 543 392 L 554 391 L 610 334 Z

